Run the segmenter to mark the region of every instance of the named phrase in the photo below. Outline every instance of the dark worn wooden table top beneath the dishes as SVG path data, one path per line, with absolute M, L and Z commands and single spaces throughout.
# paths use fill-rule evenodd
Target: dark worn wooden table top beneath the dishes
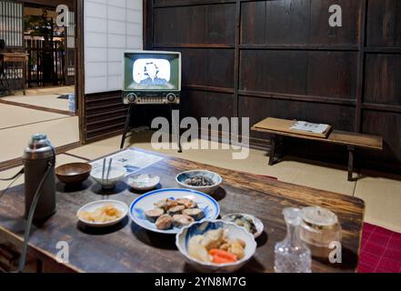
M 334 266 L 314 259 L 313 272 L 356 271 L 365 209 L 363 200 L 172 156 L 164 156 L 162 161 L 141 172 L 160 176 L 164 188 L 175 188 L 176 174 L 198 168 L 215 171 L 223 177 L 224 182 L 214 195 L 221 207 L 221 215 L 245 212 L 259 217 L 265 225 L 265 233 L 256 240 L 255 256 L 241 271 L 274 272 L 274 247 L 286 236 L 286 224 L 281 213 L 286 206 L 324 206 L 336 213 L 343 227 L 343 263 Z M 77 222 L 76 211 L 95 200 L 116 199 L 129 206 L 140 194 L 131 192 L 124 182 L 107 196 L 100 194 L 100 186 L 90 179 L 80 189 L 66 189 L 59 182 L 56 189 L 57 212 L 44 226 L 32 231 L 30 251 L 35 254 L 55 259 L 59 251 L 56 243 L 66 241 L 70 256 L 65 266 L 77 272 L 194 271 L 176 249 L 175 236 L 146 231 L 129 217 L 105 229 L 89 229 Z M 15 186 L 0 200 L 0 234 L 7 233 L 21 241 L 23 216 L 24 186 Z

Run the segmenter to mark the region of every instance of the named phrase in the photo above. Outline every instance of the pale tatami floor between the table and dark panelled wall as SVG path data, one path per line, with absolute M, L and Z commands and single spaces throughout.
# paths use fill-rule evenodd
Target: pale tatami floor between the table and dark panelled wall
M 125 146 L 135 146 L 154 150 L 150 140 L 151 133 L 140 133 L 127 140 Z M 192 143 L 196 144 L 194 140 Z M 95 159 L 118 150 L 120 136 L 115 136 L 69 151 L 75 156 Z M 377 226 L 401 232 L 401 181 L 390 178 L 366 176 L 357 182 L 346 180 L 346 168 L 338 169 L 329 165 L 313 165 L 293 157 L 287 157 L 275 166 L 267 166 L 266 151 L 251 149 L 246 160 L 233 160 L 232 150 L 160 150 L 165 154 L 183 157 L 213 166 L 226 167 L 257 175 L 276 176 L 287 183 L 311 186 L 318 189 L 358 196 L 366 202 L 365 220 Z

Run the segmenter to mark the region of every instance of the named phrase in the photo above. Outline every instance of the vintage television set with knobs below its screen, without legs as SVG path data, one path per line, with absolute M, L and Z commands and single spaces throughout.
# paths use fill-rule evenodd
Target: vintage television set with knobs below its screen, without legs
M 179 104 L 181 53 L 125 51 L 123 72 L 124 104 Z

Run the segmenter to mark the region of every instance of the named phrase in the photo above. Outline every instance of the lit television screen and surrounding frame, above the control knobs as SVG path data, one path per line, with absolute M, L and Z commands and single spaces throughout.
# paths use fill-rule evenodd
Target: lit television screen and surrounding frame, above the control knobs
M 125 52 L 123 90 L 180 91 L 180 53 L 155 51 Z

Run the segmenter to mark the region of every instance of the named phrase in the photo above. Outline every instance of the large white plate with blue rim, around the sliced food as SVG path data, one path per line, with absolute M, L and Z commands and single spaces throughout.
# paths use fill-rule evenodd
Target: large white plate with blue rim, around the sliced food
M 201 208 L 205 217 L 200 221 L 214 220 L 220 213 L 220 206 L 214 198 L 206 195 L 205 193 L 190 190 L 190 189 L 160 189 L 145 193 L 143 196 L 139 196 L 129 206 L 129 215 L 131 219 L 138 226 L 142 226 L 147 230 L 154 231 L 161 234 L 176 234 L 181 228 L 173 227 L 167 230 L 157 229 L 155 223 L 150 222 L 145 217 L 145 211 L 154 209 L 154 203 L 165 198 L 177 199 L 177 198 L 188 198 L 197 204 Z

